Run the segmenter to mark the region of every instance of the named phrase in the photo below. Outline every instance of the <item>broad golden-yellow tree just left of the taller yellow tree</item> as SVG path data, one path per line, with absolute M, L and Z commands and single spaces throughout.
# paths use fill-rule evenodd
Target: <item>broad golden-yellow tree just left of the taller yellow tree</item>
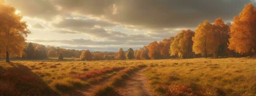
M 181 58 L 192 58 L 192 37 L 194 32 L 191 30 L 181 30 L 179 34 L 174 38 L 170 51 L 171 56 L 178 55 Z

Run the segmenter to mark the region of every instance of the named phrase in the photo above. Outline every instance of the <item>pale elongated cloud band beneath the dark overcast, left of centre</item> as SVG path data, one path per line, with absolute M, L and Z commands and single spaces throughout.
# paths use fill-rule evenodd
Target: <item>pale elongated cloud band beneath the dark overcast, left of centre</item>
M 85 33 L 90 36 L 104 38 L 114 41 L 127 41 L 127 40 L 151 40 L 152 37 L 137 34 L 128 35 L 122 32 L 117 32 L 115 30 L 107 30 L 104 27 L 115 26 L 115 24 L 108 23 L 106 21 L 94 20 L 94 19 L 65 19 L 58 24 L 53 24 L 53 26 L 62 28 L 65 30 L 70 30 L 68 32 L 75 33 Z M 62 32 L 62 31 L 59 31 Z M 68 33 L 64 31 L 64 33 Z

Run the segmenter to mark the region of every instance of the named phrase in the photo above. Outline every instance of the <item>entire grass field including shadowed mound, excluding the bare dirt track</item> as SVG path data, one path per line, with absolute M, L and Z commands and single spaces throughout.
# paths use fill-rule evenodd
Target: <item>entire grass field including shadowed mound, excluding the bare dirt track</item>
M 140 70 L 157 96 L 256 95 L 256 59 L 248 58 L 1 61 L 0 95 L 113 96 Z

